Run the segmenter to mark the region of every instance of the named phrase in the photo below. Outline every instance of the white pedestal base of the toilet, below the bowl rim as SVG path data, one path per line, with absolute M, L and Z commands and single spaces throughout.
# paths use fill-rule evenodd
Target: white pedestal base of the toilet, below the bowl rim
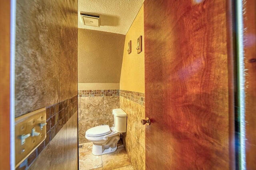
M 117 143 L 120 139 L 120 135 L 111 137 L 105 144 L 92 143 L 92 154 L 102 155 L 115 152 L 117 150 Z

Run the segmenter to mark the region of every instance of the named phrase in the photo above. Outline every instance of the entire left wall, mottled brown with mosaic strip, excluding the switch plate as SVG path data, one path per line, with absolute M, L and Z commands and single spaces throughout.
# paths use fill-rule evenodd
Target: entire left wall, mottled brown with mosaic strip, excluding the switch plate
M 77 9 L 76 0 L 17 1 L 15 116 L 47 107 L 48 118 L 46 140 L 17 169 L 76 167 Z

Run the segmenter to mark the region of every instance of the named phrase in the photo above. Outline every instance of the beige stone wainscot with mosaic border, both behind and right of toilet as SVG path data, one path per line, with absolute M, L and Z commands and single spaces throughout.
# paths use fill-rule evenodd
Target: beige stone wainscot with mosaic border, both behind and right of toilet
M 100 124 L 112 126 L 114 123 L 112 109 L 122 108 L 128 115 L 126 133 L 123 133 L 126 152 L 134 169 L 144 170 L 145 126 L 140 123 L 140 120 L 145 118 L 144 93 L 126 90 L 119 90 L 118 93 L 113 94 L 115 96 L 104 96 L 102 93 L 101 90 L 100 92 L 78 90 L 79 143 L 90 142 L 84 137 L 85 131 L 90 127 Z

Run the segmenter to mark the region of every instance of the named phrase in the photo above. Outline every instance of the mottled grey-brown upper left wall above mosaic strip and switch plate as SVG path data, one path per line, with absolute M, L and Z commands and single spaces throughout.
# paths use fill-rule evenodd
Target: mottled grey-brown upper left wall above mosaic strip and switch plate
M 15 116 L 77 94 L 77 1 L 17 1 Z

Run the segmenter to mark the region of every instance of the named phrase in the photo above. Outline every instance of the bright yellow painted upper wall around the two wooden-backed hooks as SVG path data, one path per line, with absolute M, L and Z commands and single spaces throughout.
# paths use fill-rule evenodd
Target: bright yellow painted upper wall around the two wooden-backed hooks
M 145 92 L 144 43 L 142 43 L 142 52 L 140 54 L 137 54 L 136 50 L 137 39 L 140 35 L 142 35 L 142 42 L 144 42 L 143 5 L 125 37 L 120 90 Z M 128 54 L 127 47 L 130 40 L 132 41 L 132 53 Z

